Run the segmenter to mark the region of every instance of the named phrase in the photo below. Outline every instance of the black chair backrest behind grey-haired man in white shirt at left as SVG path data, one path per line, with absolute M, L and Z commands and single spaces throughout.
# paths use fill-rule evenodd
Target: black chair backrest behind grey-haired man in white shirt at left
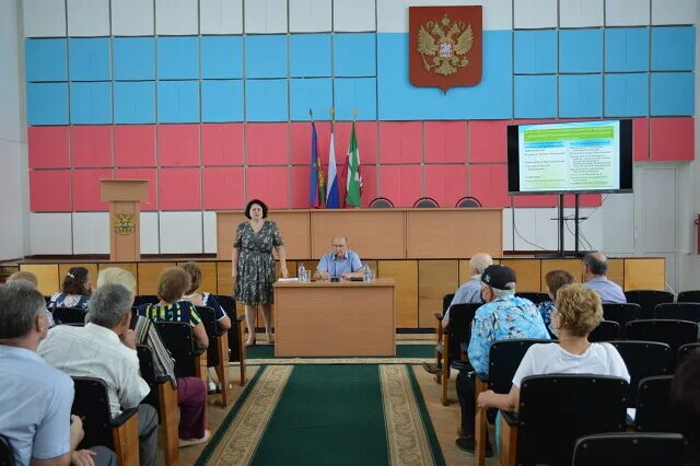
M 107 386 L 96 377 L 72 377 L 75 388 L 71 413 L 83 421 L 85 436 L 79 448 L 104 445 L 114 450 Z

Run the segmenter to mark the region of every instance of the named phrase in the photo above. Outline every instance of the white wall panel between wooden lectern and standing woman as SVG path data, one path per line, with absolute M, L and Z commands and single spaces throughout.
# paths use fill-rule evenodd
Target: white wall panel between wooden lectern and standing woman
M 201 254 L 201 212 L 160 212 L 161 254 Z

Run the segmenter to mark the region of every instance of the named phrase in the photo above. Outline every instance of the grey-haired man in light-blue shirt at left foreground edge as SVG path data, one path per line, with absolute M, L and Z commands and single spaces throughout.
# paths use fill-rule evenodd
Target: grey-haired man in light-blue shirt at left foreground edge
M 0 286 L 0 432 L 16 465 L 116 465 L 107 448 L 75 451 L 83 428 L 70 415 L 73 381 L 36 354 L 47 314 L 31 282 Z

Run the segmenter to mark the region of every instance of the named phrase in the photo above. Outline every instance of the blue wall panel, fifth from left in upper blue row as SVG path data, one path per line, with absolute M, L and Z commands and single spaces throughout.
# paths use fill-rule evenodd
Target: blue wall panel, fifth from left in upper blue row
M 202 37 L 201 77 L 202 79 L 243 78 L 243 37 Z

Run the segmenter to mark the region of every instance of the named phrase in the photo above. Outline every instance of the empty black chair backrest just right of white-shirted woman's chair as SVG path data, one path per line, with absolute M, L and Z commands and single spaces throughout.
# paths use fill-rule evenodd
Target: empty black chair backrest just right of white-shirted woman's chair
M 680 433 L 670 406 L 673 378 L 673 375 L 656 375 L 640 381 L 634 415 L 634 426 L 639 431 Z

